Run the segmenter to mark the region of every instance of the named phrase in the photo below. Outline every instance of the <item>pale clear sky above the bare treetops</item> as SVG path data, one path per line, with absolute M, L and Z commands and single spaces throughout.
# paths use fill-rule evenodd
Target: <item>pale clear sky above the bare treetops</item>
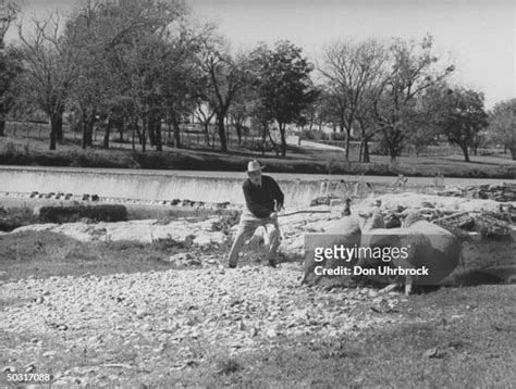
M 24 20 L 74 1 L 21 0 Z M 188 0 L 199 21 L 214 22 L 234 49 L 288 39 L 314 62 L 324 47 L 353 39 L 421 40 L 456 66 L 453 81 L 483 91 L 486 105 L 516 97 L 514 0 Z M 13 30 L 10 32 L 14 36 Z M 9 38 L 9 36 L 7 37 Z

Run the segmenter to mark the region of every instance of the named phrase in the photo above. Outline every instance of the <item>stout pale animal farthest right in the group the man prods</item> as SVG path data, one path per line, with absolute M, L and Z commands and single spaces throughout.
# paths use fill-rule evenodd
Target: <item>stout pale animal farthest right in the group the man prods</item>
M 407 248 L 406 259 L 393 259 L 389 262 L 391 266 L 404 269 L 428 268 L 426 276 L 405 276 L 405 294 L 409 294 L 413 284 L 435 285 L 450 275 L 458 265 L 460 244 L 457 238 L 446 229 L 427 222 L 417 212 L 408 212 L 402 227 L 384 228 L 381 213 L 359 214 L 361 246 L 370 248 Z M 357 261 L 360 267 L 379 267 L 385 265 L 383 261 L 363 258 Z M 403 278 L 397 277 L 396 280 Z M 396 287 L 389 285 L 382 292 L 391 291 Z

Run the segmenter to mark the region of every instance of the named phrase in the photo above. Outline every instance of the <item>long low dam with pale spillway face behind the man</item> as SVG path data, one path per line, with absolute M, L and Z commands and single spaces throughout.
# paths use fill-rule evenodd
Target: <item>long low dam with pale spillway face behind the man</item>
M 267 174 L 267 172 L 266 172 Z M 288 208 L 305 208 L 317 198 L 354 200 L 398 191 L 434 193 L 433 177 L 330 176 L 271 174 L 285 193 Z M 0 195 L 36 193 L 59 200 L 194 201 L 243 204 L 246 174 L 235 172 L 132 171 L 73 167 L 0 166 Z M 439 186 L 444 189 L 444 179 Z M 450 178 L 454 185 L 478 184 L 475 179 Z M 482 184 L 499 183 L 484 179 Z

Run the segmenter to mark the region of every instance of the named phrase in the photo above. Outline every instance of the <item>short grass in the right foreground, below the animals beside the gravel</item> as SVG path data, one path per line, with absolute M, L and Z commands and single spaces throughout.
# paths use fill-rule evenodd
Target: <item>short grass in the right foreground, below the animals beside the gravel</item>
M 514 291 L 514 286 L 481 286 L 413 296 L 390 313 L 413 323 L 331 340 L 317 334 L 284 339 L 233 361 L 239 369 L 226 381 L 243 387 L 509 388 L 516 379 Z

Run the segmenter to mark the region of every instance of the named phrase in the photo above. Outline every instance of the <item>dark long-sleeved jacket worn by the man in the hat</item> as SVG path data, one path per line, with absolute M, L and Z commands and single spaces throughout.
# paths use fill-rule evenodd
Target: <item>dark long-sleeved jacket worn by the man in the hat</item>
M 253 185 L 247 178 L 242 186 L 247 209 L 259 218 L 269 217 L 274 212 L 274 200 L 283 206 L 284 195 L 278 183 L 269 176 L 261 176 L 261 187 Z

